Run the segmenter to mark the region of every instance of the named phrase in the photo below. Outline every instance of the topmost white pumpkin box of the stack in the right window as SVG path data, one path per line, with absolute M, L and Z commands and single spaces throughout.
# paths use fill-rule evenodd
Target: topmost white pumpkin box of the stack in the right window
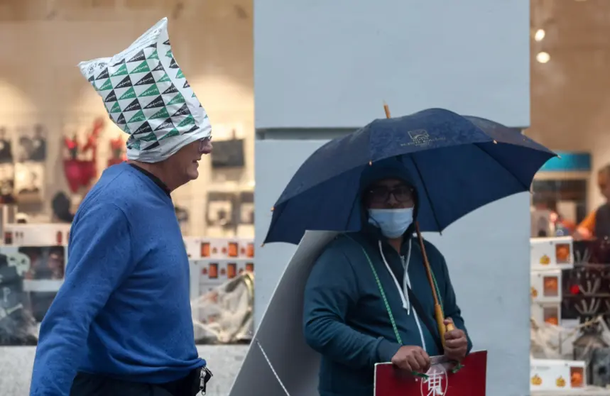
M 532 270 L 572 268 L 574 265 L 572 245 L 571 236 L 530 238 Z

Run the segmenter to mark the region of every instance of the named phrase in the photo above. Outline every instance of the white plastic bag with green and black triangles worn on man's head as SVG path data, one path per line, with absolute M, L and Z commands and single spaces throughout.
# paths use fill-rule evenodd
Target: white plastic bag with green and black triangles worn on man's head
M 173 55 L 167 18 L 121 53 L 78 66 L 110 119 L 129 134 L 130 160 L 158 162 L 210 136 L 205 109 Z

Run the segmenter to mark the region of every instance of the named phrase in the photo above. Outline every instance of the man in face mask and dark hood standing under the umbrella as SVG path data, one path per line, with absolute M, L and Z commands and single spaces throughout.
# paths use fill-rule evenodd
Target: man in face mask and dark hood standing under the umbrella
M 408 172 L 396 160 L 381 161 L 366 168 L 360 185 L 366 225 L 329 243 L 305 286 L 305 340 L 322 354 L 321 396 L 370 396 L 376 363 L 426 373 L 430 356 L 461 361 L 472 348 L 445 258 L 425 241 L 445 324 L 455 326 L 443 351 L 413 237 L 418 194 Z

